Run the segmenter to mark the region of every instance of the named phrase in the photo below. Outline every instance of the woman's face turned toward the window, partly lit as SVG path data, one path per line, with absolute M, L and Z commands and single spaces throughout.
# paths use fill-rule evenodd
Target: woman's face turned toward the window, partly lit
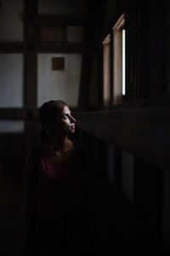
M 65 106 L 63 108 L 63 112 L 59 116 L 59 119 L 50 124 L 50 130 L 54 136 L 59 136 L 59 134 L 68 135 L 69 133 L 75 132 L 75 122 L 76 119 L 72 117 L 71 110 Z

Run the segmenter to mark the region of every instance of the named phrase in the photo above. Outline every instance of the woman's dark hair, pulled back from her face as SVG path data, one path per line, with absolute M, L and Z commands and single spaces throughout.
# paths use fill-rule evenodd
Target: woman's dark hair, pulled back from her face
M 65 106 L 67 106 L 67 104 L 59 100 L 49 101 L 42 104 L 42 107 L 39 109 L 38 113 L 38 120 L 42 125 L 42 143 L 49 142 L 50 134 L 47 130 L 48 122 L 58 119 L 59 115 L 63 112 L 63 108 L 65 108 Z

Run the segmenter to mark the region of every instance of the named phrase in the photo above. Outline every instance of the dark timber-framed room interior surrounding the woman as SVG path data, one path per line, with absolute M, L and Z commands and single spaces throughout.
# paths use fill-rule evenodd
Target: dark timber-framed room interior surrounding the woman
M 88 254 L 170 255 L 169 93 L 169 1 L 0 0 L 0 255 L 25 255 L 23 167 L 52 99 L 92 157 Z

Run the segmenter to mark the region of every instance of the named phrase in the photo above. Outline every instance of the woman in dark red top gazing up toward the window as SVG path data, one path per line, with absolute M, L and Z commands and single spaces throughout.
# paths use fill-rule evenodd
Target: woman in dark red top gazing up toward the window
M 69 138 L 76 119 L 65 102 L 45 102 L 38 118 L 41 139 L 27 154 L 24 175 L 26 253 L 80 255 L 87 235 L 87 150 Z

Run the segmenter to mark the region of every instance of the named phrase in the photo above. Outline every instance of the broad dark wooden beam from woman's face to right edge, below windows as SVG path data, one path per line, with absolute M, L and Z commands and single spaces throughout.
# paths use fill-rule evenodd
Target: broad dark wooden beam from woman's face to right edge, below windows
M 106 143 L 170 170 L 168 108 L 74 113 L 77 126 Z

